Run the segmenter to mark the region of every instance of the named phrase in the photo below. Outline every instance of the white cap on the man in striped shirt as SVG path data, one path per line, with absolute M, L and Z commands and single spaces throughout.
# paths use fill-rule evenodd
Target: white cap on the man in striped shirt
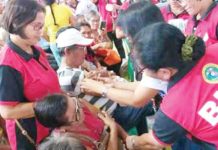
M 88 46 L 92 44 L 92 42 L 93 39 L 83 37 L 82 34 L 75 28 L 66 29 L 65 31 L 61 32 L 56 39 L 58 48 L 72 45 Z

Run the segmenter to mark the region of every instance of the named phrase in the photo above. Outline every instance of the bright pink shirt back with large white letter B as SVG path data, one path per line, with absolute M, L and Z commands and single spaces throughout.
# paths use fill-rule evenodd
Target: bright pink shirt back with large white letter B
M 218 44 L 164 97 L 162 112 L 195 138 L 218 148 Z M 169 131 L 170 132 L 170 131 Z

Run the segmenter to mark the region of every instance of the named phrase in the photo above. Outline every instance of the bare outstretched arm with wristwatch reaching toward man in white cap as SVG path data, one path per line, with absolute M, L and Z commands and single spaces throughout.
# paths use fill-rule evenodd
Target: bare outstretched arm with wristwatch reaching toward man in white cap
M 117 85 L 118 83 L 115 84 Z M 125 87 L 128 88 L 128 84 L 125 84 Z M 106 93 L 109 99 L 117 103 L 135 107 L 144 106 L 158 93 L 158 90 L 141 86 L 138 86 L 135 91 L 116 88 L 116 86 L 108 87 L 101 82 L 90 79 L 83 80 L 81 88 L 98 94 Z

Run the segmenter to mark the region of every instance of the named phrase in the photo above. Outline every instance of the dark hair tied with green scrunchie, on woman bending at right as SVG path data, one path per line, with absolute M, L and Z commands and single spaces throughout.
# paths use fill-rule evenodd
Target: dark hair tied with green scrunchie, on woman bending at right
M 154 23 L 138 32 L 133 49 L 143 67 L 157 71 L 172 67 L 181 69 L 189 62 L 197 62 L 205 53 L 205 45 L 198 37 L 193 46 L 192 61 L 184 61 L 181 54 L 186 37 L 176 27 L 167 23 Z

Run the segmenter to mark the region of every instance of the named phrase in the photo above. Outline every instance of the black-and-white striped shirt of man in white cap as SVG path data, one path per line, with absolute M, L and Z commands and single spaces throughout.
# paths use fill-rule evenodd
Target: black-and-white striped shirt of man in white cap
M 117 107 L 117 103 L 108 98 L 81 93 L 80 82 L 84 79 L 84 72 L 81 69 L 66 67 L 58 69 L 57 73 L 61 89 L 69 95 L 79 96 L 109 114 L 112 114 Z

